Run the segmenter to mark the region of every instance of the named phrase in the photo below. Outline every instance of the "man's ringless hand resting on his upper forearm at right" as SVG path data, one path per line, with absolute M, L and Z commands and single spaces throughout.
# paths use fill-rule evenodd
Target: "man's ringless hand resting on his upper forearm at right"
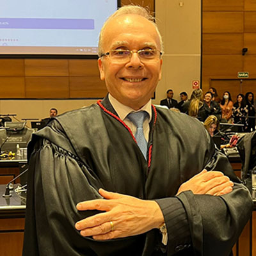
M 180 185 L 177 195 L 191 190 L 194 194 L 220 196 L 230 193 L 234 183 L 222 172 L 202 170 L 187 182 Z

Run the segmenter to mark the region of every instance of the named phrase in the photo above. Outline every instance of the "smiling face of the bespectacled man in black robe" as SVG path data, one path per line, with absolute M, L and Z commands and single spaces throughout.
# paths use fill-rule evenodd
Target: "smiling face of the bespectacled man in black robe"
M 156 28 L 140 15 L 120 15 L 109 20 L 102 35 L 104 52 L 112 49 L 157 49 L 160 40 Z M 119 102 L 132 109 L 140 109 L 152 97 L 161 79 L 162 60 L 141 61 L 137 53 L 126 62 L 109 56 L 99 58 L 100 79 L 108 92 Z

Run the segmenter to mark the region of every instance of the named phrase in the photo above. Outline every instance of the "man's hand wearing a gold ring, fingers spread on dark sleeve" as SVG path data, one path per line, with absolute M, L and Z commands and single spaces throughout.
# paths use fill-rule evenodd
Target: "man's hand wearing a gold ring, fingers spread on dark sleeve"
M 104 211 L 75 225 L 81 236 L 93 236 L 96 240 L 143 234 L 164 223 L 163 213 L 155 201 L 141 200 L 99 189 L 106 199 L 97 199 L 77 204 L 79 211 Z

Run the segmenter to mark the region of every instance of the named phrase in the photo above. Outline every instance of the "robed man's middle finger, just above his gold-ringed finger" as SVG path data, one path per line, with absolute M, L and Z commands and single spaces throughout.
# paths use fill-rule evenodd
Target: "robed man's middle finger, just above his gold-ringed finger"
M 110 221 L 110 216 L 107 212 L 103 212 L 85 218 L 84 220 L 77 221 L 75 227 L 77 230 L 83 230 L 86 228 L 97 227 L 107 221 Z

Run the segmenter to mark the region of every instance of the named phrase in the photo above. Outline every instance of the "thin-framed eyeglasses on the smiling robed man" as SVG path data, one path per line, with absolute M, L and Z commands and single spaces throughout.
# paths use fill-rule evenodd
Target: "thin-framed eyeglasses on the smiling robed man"
M 156 49 L 142 49 L 138 51 L 131 51 L 128 49 L 113 49 L 109 52 L 101 54 L 100 58 L 103 56 L 109 56 L 109 58 L 112 60 L 125 62 L 129 61 L 134 53 L 138 53 L 141 61 L 159 60 L 163 54 L 161 51 Z

